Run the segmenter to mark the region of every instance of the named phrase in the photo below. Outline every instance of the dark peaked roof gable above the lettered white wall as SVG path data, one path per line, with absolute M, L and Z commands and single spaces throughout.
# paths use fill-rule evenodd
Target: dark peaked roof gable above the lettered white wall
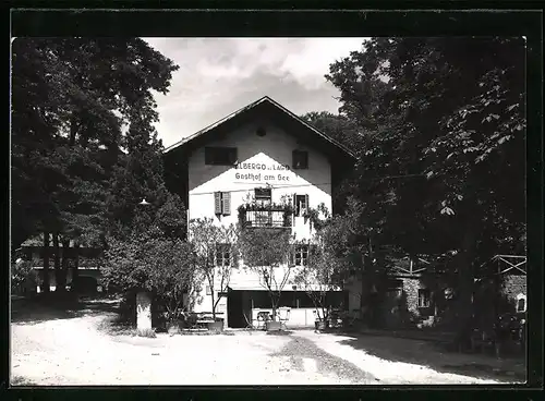
M 268 96 L 262 97 L 261 99 L 232 112 L 231 114 L 215 122 L 214 124 L 208 125 L 207 127 L 196 132 L 195 134 L 187 136 L 182 141 L 167 147 L 165 149 L 165 153 L 168 154 L 175 149 L 203 146 L 207 142 L 213 141 L 215 138 L 215 134 L 229 131 L 238 124 L 249 121 L 256 113 L 266 113 L 269 116 L 274 116 L 275 121 L 279 125 L 298 129 L 286 130 L 288 134 L 294 135 L 294 133 L 298 133 L 298 135 L 304 136 L 307 142 L 317 144 L 318 146 L 322 145 L 323 148 L 331 150 L 329 151 L 330 154 L 341 157 L 349 156 L 355 159 L 354 154 L 342 144 L 327 136 L 319 130 L 316 130 L 314 126 L 312 126 Z

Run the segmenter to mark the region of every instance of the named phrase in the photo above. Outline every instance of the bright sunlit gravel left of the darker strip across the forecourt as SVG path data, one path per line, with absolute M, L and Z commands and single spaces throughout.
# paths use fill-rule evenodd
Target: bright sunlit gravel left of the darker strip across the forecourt
M 275 355 L 290 338 L 158 335 L 109 336 L 97 329 L 108 314 L 11 325 L 15 384 L 85 385 L 338 385 L 332 373 L 293 369 Z

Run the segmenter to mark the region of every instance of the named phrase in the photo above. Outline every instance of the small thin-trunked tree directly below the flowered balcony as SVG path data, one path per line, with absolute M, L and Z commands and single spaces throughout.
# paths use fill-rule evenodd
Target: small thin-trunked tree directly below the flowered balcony
M 288 257 L 294 236 L 290 230 L 272 228 L 245 228 L 239 235 L 244 265 L 259 278 L 267 291 L 276 320 L 278 302 L 290 279 L 293 266 Z

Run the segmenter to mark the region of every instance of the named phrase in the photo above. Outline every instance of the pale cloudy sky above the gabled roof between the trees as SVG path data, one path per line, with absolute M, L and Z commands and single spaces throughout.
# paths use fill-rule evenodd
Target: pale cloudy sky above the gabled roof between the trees
M 269 96 L 295 114 L 338 112 L 329 64 L 365 38 L 144 38 L 180 66 L 167 95 L 155 94 L 162 144 L 178 141 Z

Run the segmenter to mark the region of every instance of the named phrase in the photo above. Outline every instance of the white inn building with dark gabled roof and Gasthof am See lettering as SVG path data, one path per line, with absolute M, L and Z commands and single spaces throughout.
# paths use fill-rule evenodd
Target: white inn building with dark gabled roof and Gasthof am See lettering
M 324 204 L 334 212 L 336 184 L 352 165 L 348 149 L 269 97 L 170 146 L 165 155 L 167 184 L 181 195 L 189 220 L 214 218 L 218 224 L 230 224 L 242 218 L 253 227 L 291 230 L 298 240 L 312 236 L 303 209 Z M 295 214 L 287 220 L 281 211 L 267 216 L 246 211 L 240 216 L 238 208 L 249 197 L 262 204 L 289 199 Z M 295 250 L 295 265 L 304 264 L 306 250 Z M 221 258 L 216 255 L 216 260 Z M 278 268 L 279 275 L 282 269 Z M 195 311 L 211 312 L 206 283 L 201 294 Z M 229 327 L 245 327 L 244 316 L 255 319 L 259 309 L 270 308 L 258 275 L 249 269 L 233 269 L 229 291 L 222 295 L 217 311 Z M 308 296 L 291 280 L 283 288 L 279 306 L 291 307 L 288 326 L 314 325 Z

